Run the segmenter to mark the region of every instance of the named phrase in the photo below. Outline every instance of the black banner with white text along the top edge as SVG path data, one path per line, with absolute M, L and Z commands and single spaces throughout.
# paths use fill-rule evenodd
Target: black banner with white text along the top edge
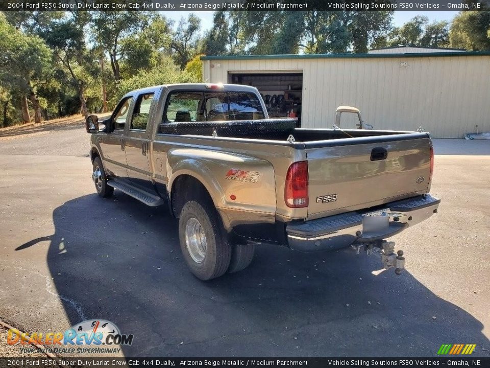
M 490 0 L 1 0 L 1 11 L 479 11 Z

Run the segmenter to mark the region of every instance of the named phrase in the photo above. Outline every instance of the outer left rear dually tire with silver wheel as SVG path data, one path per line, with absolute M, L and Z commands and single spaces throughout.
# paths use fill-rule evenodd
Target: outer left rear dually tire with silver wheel
M 179 240 L 187 266 L 198 279 L 215 279 L 227 271 L 231 247 L 223 239 L 212 204 L 205 200 L 184 204 L 179 217 Z

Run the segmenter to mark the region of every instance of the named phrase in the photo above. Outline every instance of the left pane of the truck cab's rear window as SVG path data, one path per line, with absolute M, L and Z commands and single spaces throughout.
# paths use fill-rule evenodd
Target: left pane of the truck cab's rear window
M 165 106 L 163 122 L 205 121 L 201 109 L 203 94 L 199 92 L 177 92 L 170 95 Z

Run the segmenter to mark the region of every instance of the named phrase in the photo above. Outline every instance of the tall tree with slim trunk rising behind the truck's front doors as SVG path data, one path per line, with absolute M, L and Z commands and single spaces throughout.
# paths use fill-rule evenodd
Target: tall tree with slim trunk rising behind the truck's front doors
M 128 43 L 123 40 L 135 37 L 148 25 L 149 20 L 150 16 L 146 12 L 100 11 L 92 16 L 93 41 L 109 54 L 116 81 L 121 79 L 119 60 L 131 50 L 125 48 Z

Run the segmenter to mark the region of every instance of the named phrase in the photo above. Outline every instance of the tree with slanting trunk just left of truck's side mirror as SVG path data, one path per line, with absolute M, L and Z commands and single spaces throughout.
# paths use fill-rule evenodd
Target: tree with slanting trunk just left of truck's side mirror
M 86 13 L 76 12 L 71 17 L 51 24 L 44 34 L 66 80 L 77 93 L 85 117 L 88 116 L 85 92 L 100 72 L 96 54 L 90 53 L 85 43 L 84 27 L 87 23 Z

